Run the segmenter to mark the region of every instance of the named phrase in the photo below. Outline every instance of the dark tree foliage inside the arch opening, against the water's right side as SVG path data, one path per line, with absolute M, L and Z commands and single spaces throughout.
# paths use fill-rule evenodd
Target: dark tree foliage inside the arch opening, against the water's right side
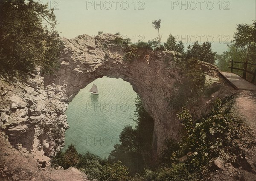
M 134 175 L 143 171 L 152 160 L 152 139 L 154 121 L 145 111 L 139 96 L 136 99 L 135 115 L 137 125 L 125 126 L 119 136 L 121 144 L 116 144 L 111 151 L 109 160 L 113 162 L 122 161 L 129 168 L 129 173 Z

